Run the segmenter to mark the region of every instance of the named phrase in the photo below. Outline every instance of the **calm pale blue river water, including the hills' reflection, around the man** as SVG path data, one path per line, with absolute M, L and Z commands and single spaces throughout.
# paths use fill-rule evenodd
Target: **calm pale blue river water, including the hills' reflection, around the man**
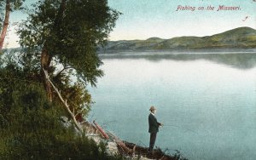
M 102 61 L 89 120 L 148 146 L 154 105 L 165 124 L 156 146 L 193 160 L 256 158 L 256 54 L 142 52 Z

